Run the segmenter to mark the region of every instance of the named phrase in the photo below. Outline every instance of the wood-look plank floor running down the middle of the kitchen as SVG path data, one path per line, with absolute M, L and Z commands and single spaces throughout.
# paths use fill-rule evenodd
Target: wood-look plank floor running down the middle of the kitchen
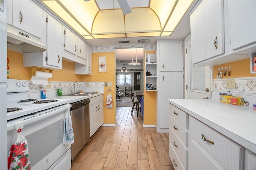
M 131 107 L 116 108 L 116 127 L 100 127 L 72 161 L 71 170 L 174 170 L 169 133 L 143 128 Z

